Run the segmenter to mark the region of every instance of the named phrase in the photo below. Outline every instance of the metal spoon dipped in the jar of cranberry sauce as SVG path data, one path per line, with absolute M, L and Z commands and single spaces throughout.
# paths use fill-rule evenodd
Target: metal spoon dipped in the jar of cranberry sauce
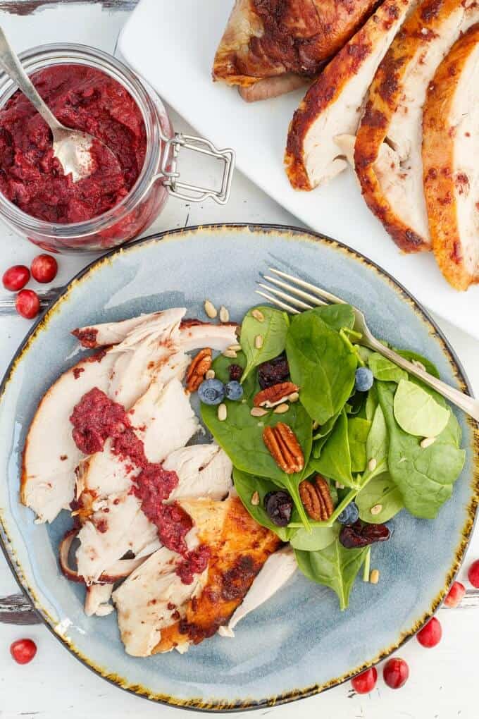
M 118 165 L 118 160 L 115 155 L 113 155 L 110 148 L 103 142 L 88 134 L 88 132 L 73 130 L 70 127 L 65 127 L 61 122 L 58 122 L 50 108 L 37 93 L 37 90 L 22 68 L 22 63 L 20 63 L 14 50 L 12 50 L 1 27 L 0 67 L 3 68 L 11 80 L 19 86 L 24 96 L 29 99 L 45 120 L 48 127 L 50 127 L 53 136 L 53 154 L 62 165 L 65 175 L 71 173 L 73 182 L 83 180 L 93 172 L 94 165 L 90 152 L 93 141 L 103 145 L 111 155 L 111 161 L 114 162 L 114 165 Z

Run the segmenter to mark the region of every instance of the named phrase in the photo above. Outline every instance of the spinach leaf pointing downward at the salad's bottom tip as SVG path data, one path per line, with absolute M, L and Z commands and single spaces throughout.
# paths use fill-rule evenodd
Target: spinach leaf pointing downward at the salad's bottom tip
M 341 610 L 348 606 L 354 580 L 367 552 L 368 547 L 345 549 L 339 539 L 320 551 L 294 550 L 298 567 L 304 576 L 336 592 Z

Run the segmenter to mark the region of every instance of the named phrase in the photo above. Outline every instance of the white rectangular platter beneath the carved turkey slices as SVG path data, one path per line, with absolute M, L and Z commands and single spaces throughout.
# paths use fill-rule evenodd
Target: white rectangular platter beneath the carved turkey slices
M 479 286 L 457 292 L 432 255 L 402 254 L 366 207 L 352 170 L 309 193 L 289 185 L 284 146 L 302 91 L 246 104 L 236 89 L 212 82 L 213 57 L 232 6 L 233 0 L 141 0 L 118 49 L 197 132 L 218 147 L 233 147 L 238 169 L 285 209 L 362 252 L 424 306 L 479 338 Z

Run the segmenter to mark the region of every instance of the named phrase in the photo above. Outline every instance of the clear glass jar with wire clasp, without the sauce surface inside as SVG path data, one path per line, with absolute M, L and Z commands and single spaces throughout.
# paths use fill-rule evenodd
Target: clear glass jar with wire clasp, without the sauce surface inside
M 32 217 L 11 203 L 0 192 L 0 218 L 22 237 L 50 252 L 101 251 L 144 232 L 162 211 L 168 195 L 189 201 L 212 197 L 225 203 L 234 166 L 232 150 L 216 150 L 207 140 L 175 135 L 166 109 L 157 93 L 129 68 L 106 52 L 85 45 L 42 45 L 19 55 L 27 74 L 53 65 L 89 65 L 121 83 L 139 107 L 147 134 L 144 165 L 128 195 L 107 212 L 88 221 L 73 224 L 46 222 Z M 10 78 L 0 79 L 0 109 L 17 87 Z M 199 150 L 224 162 L 220 191 L 181 183 L 176 168 L 180 147 Z

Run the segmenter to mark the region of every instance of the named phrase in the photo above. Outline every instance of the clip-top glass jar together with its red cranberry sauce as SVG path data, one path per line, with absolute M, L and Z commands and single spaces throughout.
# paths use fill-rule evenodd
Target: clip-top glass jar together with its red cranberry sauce
M 23 52 L 20 59 L 34 83 L 42 83 L 42 86 L 39 86 L 40 93 L 42 87 L 44 93 L 48 91 L 45 88 L 50 77 L 53 78 L 50 86 L 53 82 L 56 83 L 55 99 L 59 101 L 58 97 L 65 98 L 65 104 L 68 105 L 59 106 L 57 112 L 60 114 L 60 122 L 75 127 L 75 119 L 80 118 L 84 127 L 77 129 L 90 132 L 90 119 L 85 114 L 85 106 L 92 102 L 92 117 L 94 111 L 100 114 L 104 109 L 103 106 L 98 109 L 95 98 L 92 97 L 98 78 L 102 91 L 106 93 L 107 108 L 110 100 L 112 103 L 116 101 L 112 112 L 115 120 L 118 118 L 122 141 L 128 142 L 131 137 L 132 142 L 136 142 L 140 134 L 141 137 L 137 143 L 138 147 L 135 148 L 136 160 L 132 163 L 135 171 L 131 170 L 131 167 L 126 168 L 125 178 L 114 178 L 106 172 L 103 176 L 101 173 L 92 174 L 88 180 L 81 180 L 90 181 L 92 193 L 100 193 L 101 201 L 96 204 L 98 214 L 88 216 L 91 199 L 88 197 L 88 190 L 81 190 L 78 200 L 78 188 L 72 186 L 71 180 L 62 175 L 61 165 L 56 164 L 56 158 L 52 157 L 50 147 L 47 147 L 48 142 L 45 143 L 46 126 L 38 126 L 39 139 L 22 136 L 22 123 L 18 124 L 17 121 L 21 119 L 22 112 L 32 119 L 33 111 L 25 105 L 28 103 L 27 99 L 19 97 L 14 83 L 6 75 L 0 75 L 0 218 L 15 232 L 50 252 L 101 251 L 138 237 L 157 218 L 169 195 L 190 202 L 203 201 L 205 198 L 213 198 L 218 203 L 228 201 L 234 168 L 233 150 L 216 150 L 208 140 L 175 134 L 157 93 L 121 61 L 96 48 L 73 44 L 34 47 Z M 85 68 L 90 68 L 91 72 Z M 71 86 L 68 83 L 69 73 L 72 77 Z M 78 95 L 73 89 L 75 78 L 81 78 L 81 93 Z M 122 87 L 118 87 L 116 83 Z M 21 109 L 16 116 L 16 110 L 12 111 L 11 108 L 17 106 Z M 55 107 L 52 109 L 55 111 Z M 9 125 L 4 127 L 7 120 Z M 43 121 L 34 117 L 31 123 L 33 127 L 36 127 L 36 122 Z M 103 137 L 98 139 L 110 147 L 110 128 L 106 126 L 104 131 Z M 32 132 L 30 125 L 28 132 Z M 218 190 L 182 181 L 177 171 L 177 155 L 182 147 L 221 161 L 223 176 Z M 114 147 L 111 149 L 115 151 Z M 29 165 L 31 152 L 37 153 L 35 157 L 39 158 L 38 167 L 32 168 Z M 120 165 L 123 163 L 123 170 L 125 158 L 121 157 L 121 145 L 116 147 L 116 155 Z M 19 157 L 27 157 L 25 168 L 22 168 Z M 42 176 L 42 173 L 50 173 L 53 183 L 42 185 L 45 180 L 45 174 Z M 57 175 L 60 175 L 60 178 Z M 32 184 L 35 178 L 38 180 L 38 186 Z M 50 175 L 47 179 L 50 182 Z M 121 184 L 123 180 L 124 186 Z M 73 193 L 73 199 L 70 192 Z M 65 195 L 62 196 L 62 193 Z M 42 206 L 42 198 L 45 198 L 45 207 Z

